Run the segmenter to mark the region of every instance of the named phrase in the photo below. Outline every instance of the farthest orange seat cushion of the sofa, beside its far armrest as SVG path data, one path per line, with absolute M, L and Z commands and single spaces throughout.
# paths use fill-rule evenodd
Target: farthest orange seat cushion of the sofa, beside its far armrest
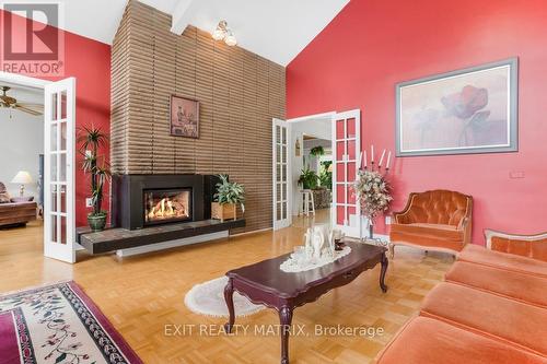
M 492 251 L 473 244 L 465 246 L 458 254 L 457 260 L 547 278 L 547 262 L 545 261 Z

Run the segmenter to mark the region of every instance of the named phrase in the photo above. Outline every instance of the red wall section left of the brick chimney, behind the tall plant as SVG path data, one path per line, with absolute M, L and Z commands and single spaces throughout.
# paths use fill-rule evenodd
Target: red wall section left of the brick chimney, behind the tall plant
M 0 10 L 0 12 L 2 12 Z M 0 14 L 3 15 L 3 14 Z M 26 20 L 14 16 L 13 30 L 23 39 Z M 21 34 L 19 34 L 21 31 Z M 94 125 L 107 133 L 110 131 L 110 46 L 69 32 L 65 36 L 65 75 L 56 79 L 74 77 L 77 79 L 77 128 Z M 22 42 L 22 40 L 21 40 Z M 28 74 L 32 77 L 32 74 Z M 56 80 L 55 78 L 49 80 Z M 109 155 L 106 148 L 103 153 Z M 77 155 L 77 160 L 80 156 Z M 79 165 L 75 173 L 75 211 L 77 226 L 86 225 L 85 198 L 90 196 L 86 176 Z M 108 189 L 105 191 L 104 209 L 109 209 Z

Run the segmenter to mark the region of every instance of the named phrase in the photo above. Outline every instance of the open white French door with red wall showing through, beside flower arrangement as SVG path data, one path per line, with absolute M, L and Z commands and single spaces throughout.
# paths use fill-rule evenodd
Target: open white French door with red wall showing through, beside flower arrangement
M 333 208 L 330 221 L 346 235 L 361 236 L 361 207 L 353 192 L 361 153 L 361 110 L 333 116 Z

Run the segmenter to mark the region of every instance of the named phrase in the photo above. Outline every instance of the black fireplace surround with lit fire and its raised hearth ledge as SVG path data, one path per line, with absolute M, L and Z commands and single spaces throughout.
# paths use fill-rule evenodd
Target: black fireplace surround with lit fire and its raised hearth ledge
M 211 219 L 219 181 L 214 175 L 114 175 L 112 226 L 78 228 L 78 243 L 91 254 L 125 257 L 226 237 L 245 220 Z

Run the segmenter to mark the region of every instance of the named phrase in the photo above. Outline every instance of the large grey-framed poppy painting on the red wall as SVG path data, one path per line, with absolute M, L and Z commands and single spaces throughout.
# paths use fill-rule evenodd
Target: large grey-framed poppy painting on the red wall
M 398 156 L 517 151 L 516 58 L 396 86 Z

